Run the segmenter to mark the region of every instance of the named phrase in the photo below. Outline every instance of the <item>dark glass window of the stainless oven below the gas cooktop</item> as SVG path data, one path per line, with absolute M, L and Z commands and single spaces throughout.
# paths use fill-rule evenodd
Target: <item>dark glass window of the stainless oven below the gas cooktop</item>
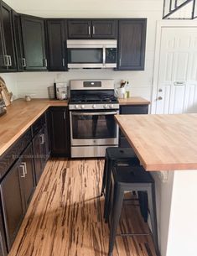
M 116 138 L 117 123 L 113 114 L 72 113 L 73 138 Z

